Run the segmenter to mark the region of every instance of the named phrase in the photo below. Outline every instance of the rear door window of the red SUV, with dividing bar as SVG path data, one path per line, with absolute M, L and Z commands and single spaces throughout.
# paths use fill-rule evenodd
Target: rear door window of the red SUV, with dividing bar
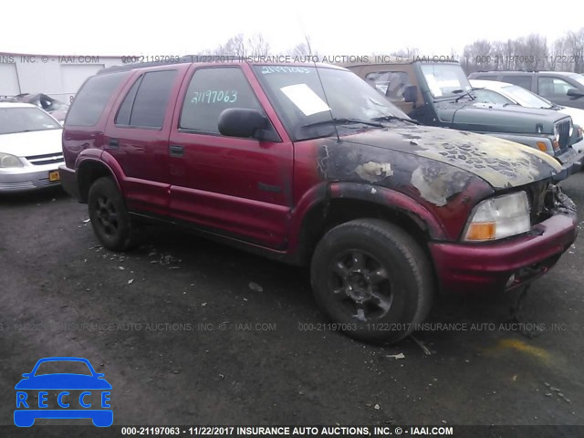
M 176 70 L 142 75 L 121 102 L 115 123 L 121 126 L 162 128 Z

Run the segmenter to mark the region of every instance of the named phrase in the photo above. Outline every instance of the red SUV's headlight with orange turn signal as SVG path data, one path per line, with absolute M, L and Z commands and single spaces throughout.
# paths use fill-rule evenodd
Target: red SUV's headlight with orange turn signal
M 474 207 L 464 240 L 484 242 L 527 233 L 531 228 L 527 193 L 517 192 L 486 199 Z

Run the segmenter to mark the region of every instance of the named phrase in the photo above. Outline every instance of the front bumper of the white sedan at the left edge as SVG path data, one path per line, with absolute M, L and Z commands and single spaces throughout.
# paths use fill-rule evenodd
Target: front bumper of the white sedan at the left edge
M 59 164 L 0 169 L 0 193 L 22 193 L 58 186 L 60 178 L 51 181 L 50 175 L 57 172 Z

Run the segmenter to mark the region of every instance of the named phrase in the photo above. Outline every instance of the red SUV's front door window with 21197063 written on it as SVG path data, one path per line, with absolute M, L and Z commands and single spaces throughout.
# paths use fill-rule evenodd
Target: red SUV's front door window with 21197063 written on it
M 239 68 L 200 68 L 186 91 L 180 128 L 218 133 L 219 115 L 228 108 L 263 112 Z

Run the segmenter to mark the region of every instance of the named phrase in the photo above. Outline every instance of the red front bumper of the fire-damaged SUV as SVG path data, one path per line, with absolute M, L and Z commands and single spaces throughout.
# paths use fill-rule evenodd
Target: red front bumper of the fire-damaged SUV
M 431 243 L 441 290 L 497 292 L 527 285 L 543 276 L 578 235 L 576 214 L 566 210 L 565 214 L 555 214 L 534 225 L 527 235 L 501 242 Z

